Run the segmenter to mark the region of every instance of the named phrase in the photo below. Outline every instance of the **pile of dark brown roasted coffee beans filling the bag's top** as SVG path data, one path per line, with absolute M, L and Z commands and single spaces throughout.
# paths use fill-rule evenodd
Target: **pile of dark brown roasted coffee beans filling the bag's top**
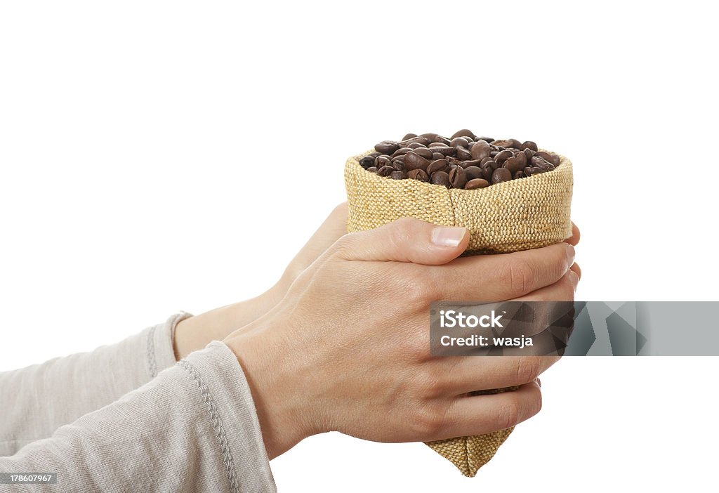
M 531 141 L 477 137 L 463 129 L 449 138 L 406 134 L 399 141 L 385 140 L 359 164 L 394 180 L 411 178 L 473 190 L 554 170 L 559 156 L 540 151 Z

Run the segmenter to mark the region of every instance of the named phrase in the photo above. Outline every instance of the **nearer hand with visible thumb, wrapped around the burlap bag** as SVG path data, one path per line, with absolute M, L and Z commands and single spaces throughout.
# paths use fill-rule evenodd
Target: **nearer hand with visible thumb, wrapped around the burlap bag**
M 574 248 L 457 258 L 468 241 L 465 229 L 416 219 L 342 236 L 282 303 L 225 339 L 247 375 L 270 458 L 330 430 L 434 441 L 509 428 L 539 411 L 535 379 L 557 358 L 432 358 L 429 303 L 572 300 Z

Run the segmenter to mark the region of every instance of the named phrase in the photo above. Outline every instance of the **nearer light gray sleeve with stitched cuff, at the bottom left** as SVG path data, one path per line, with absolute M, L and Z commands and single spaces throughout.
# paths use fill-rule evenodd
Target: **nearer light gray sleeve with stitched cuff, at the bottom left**
M 0 471 L 57 472 L 0 492 L 275 492 L 242 368 L 219 341 L 116 402 L 59 428 Z

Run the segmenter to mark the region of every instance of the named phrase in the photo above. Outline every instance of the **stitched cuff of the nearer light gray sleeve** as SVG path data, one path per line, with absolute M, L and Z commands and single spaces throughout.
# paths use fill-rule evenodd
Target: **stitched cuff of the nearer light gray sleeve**
M 255 402 L 234 353 L 224 343 L 213 341 L 178 366 L 201 390 L 200 404 L 213 425 L 231 483 L 236 482 L 242 492 L 276 492 Z

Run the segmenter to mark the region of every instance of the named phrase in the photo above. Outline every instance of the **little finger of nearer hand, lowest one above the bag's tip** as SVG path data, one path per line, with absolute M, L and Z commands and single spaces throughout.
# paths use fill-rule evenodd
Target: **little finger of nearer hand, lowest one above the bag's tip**
M 541 392 L 535 381 L 511 392 L 456 397 L 439 427 L 437 434 L 441 436 L 432 440 L 505 430 L 531 418 L 539 410 Z

